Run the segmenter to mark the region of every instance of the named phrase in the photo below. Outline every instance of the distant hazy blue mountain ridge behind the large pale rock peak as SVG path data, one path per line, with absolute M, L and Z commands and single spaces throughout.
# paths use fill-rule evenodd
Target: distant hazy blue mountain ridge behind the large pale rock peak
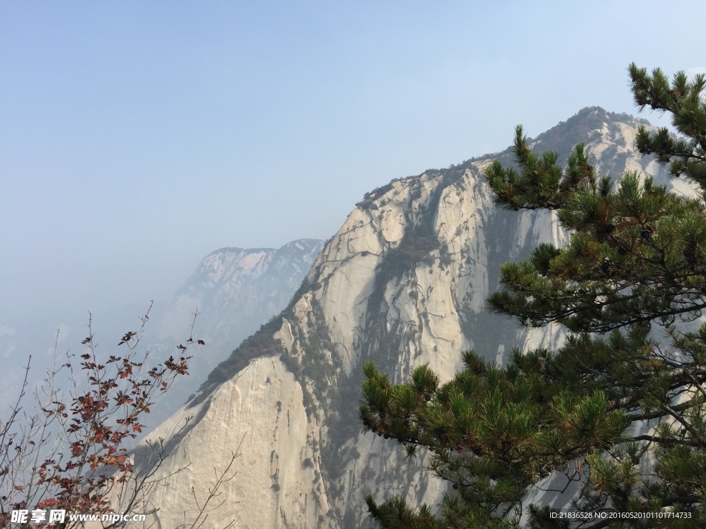
M 279 249 L 216 250 L 201 261 L 169 303 L 155 303 L 141 341 L 141 348 L 150 351 L 150 363 L 177 354 L 177 346 L 189 336 L 192 313 L 197 308 L 194 338 L 203 339 L 206 345 L 189 349 L 189 354 L 194 355 L 189 376 L 172 387 L 169 399 L 157 401 L 152 413 L 145 417 L 146 425 L 157 425 L 169 417 L 238 343 L 287 305 L 322 247 L 323 241 L 301 239 Z M 139 305 L 116 308 L 111 315 L 95 314 L 93 330 L 100 354 L 106 358 L 108 354 L 118 354 L 120 351 L 111 347 L 124 332 L 136 329 L 138 316 L 147 308 L 148 305 Z M 30 395 L 25 407 L 30 404 L 31 392 L 41 384 L 47 365 L 52 363 L 57 330 L 59 363 L 66 361 L 67 350 L 80 351 L 80 341 L 88 334 L 88 313 L 69 316 L 73 317 L 0 322 L 0 414 L 16 401 L 23 366 L 32 354 Z M 124 322 L 130 322 L 129 329 L 121 327 Z

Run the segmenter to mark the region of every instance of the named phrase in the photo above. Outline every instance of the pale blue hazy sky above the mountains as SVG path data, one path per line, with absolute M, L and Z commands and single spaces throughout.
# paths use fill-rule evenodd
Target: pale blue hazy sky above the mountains
M 706 66 L 704 20 L 702 1 L 3 1 L 0 319 L 167 298 L 212 250 L 328 238 L 366 191 L 517 123 L 634 114 L 628 64 Z

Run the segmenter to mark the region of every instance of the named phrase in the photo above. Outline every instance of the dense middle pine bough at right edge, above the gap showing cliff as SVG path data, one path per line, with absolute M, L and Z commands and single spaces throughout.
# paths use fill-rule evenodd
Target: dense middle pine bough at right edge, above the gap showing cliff
M 650 178 L 640 184 L 635 174 L 607 195 L 602 186 L 611 187 L 573 193 L 571 207 L 559 212 L 574 235 L 551 262 L 537 262 L 536 251 L 534 262 L 503 265 L 505 288 L 490 296 L 491 310 L 533 327 L 561 322 L 576 332 L 608 332 L 674 322 L 706 307 L 699 290 L 706 274 L 702 201 L 666 193 Z

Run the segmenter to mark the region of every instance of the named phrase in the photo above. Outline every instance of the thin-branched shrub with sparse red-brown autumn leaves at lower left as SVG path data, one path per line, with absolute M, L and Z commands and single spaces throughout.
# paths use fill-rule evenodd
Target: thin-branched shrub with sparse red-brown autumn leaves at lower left
M 71 521 L 68 514 L 112 513 L 115 505 L 122 512 L 157 511 L 148 505 L 148 493 L 174 475 L 159 478 L 157 471 L 172 455 L 171 441 L 184 432 L 189 420 L 168 441 L 148 442 L 152 453 L 137 465 L 128 446 L 143 432 L 143 418 L 157 396 L 177 378 L 188 375 L 189 348 L 204 342 L 193 337 L 196 310 L 189 336 L 177 347 L 177 355 L 149 367 L 150 353 L 140 352 L 139 345 L 151 308 L 150 303 L 138 329 L 124 333 L 115 354 L 100 350 L 89 313 L 88 336 L 80 342 L 83 350 L 67 351 L 58 367 L 55 360 L 44 384 L 35 391 L 37 408 L 31 412 L 25 410 L 28 360 L 18 400 L 6 422 L 0 422 L 0 528 L 9 527 L 12 511 L 20 509 L 30 513 L 64 511 L 67 516 L 61 521 L 38 521 L 56 528 L 82 525 Z M 213 500 L 220 495 L 222 483 L 234 477 L 232 466 L 238 456 L 236 451 L 225 470 L 215 470 L 215 481 L 203 501 L 194 492 L 198 516 L 186 526 L 201 527 L 208 513 L 222 504 L 214 506 Z M 112 522 L 107 527 L 124 523 Z M 25 520 L 19 525 L 31 524 Z

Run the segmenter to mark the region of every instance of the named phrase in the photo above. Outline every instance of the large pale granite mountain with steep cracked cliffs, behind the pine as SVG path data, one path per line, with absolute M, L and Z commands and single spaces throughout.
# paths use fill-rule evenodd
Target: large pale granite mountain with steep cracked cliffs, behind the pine
M 533 141 L 561 159 L 585 142 L 599 172 L 625 170 L 663 178 L 633 150 L 639 120 L 584 109 Z M 644 123 L 644 122 L 642 122 Z M 557 328 L 527 332 L 490 315 L 484 300 L 497 288 L 501 263 L 529 255 L 564 233 L 546 212 L 493 207 L 482 171 L 510 150 L 429 170 L 367 194 L 328 241 L 287 309 L 219 365 L 201 392 L 153 437 L 168 437 L 194 419 L 176 442 L 166 476 L 149 503 L 162 527 L 194 516 L 191 487 L 205 494 L 213 468 L 240 446 L 225 503 L 207 525 L 232 519 L 241 528 L 363 528 L 364 497 L 401 494 L 434 502 L 445 484 L 402 461 L 402 449 L 362 435 L 355 407 L 361 361 L 373 360 L 397 382 L 429 364 L 442 379 L 474 348 L 502 363 L 513 347 L 556 347 Z

